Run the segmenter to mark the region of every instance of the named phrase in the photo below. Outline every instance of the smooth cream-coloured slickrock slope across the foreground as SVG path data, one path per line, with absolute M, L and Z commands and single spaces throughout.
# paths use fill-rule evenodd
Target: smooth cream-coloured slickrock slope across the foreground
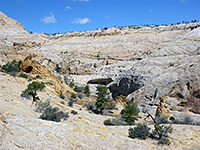
M 0 72 L 0 149 L 198 149 L 200 127 L 173 125 L 174 132 L 170 135 L 170 146 L 157 145 L 152 139 L 138 140 L 128 138 L 129 126 L 106 127 L 103 121 L 106 116 L 90 114 L 85 109 L 79 110 L 61 105 L 61 99 L 46 87 L 39 96 L 43 100 L 50 99 L 54 106 L 64 112 L 72 109 L 78 115 L 69 114 L 64 122 L 52 122 L 38 119 L 35 106 L 31 101 L 20 97 L 28 84 L 26 79 L 13 78 Z M 2 119 L 4 118 L 4 119 Z M 152 127 L 152 126 L 151 126 Z

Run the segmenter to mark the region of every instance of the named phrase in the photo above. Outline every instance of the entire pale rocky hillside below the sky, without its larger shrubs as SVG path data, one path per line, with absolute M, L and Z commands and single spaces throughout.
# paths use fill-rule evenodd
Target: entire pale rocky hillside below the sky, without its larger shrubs
M 2 70 L 23 60 L 14 77 Z M 56 71 L 57 70 L 57 71 Z M 18 75 L 20 74 L 18 73 Z M 90 83 L 90 96 L 76 92 Z M 21 96 L 32 81 L 44 82 L 38 92 L 69 117 L 61 122 L 40 119 L 37 106 Z M 97 83 L 105 83 L 116 110 L 95 114 L 86 105 L 96 101 Z M 77 97 L 68 105 L 72 93 Z M 61 97 L 64 96 L 64 99 Z M 126 101 L 137 103 L 138 121 L 153 129 L 160 97 L 182 124 L 172 124 L 171 144 L 159 145 L 128 137 L 130 126 L 105 126 L 119 117 Z M 179 25 L 113 27 L 85 32 L 30 34 L 0 12 L 0 149 L 199 149 L 200 22 Z M 169 108 L 168 108 L 169 107 Z M 164 108 L 165 109 L 165 108 Z M 74 115 L 72 110 L 78 114 Z M 132 126 L 134 127 L 134 126 Z

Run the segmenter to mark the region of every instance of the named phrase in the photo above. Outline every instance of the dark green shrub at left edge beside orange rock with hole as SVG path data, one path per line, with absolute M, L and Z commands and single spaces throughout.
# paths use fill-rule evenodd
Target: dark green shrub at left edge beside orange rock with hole
M 7 64 L 3 65 L 2 70 L 6 71 L 7 73 L 12 73 L 12 72 L 16 73 L 20 71 L 21 64 L 22 64 L 21 60 L 18 62 L 16 60 L 13 60 L 12 62 L 8 62 Z

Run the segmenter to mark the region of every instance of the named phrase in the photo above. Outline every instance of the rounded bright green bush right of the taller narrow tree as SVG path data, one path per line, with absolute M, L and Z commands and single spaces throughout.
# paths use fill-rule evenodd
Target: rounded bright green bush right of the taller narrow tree
M 128 102 L 128 104 L 125 105 L 125 108 L 121 111 L 121 115 L 128 125 L 134 125 L 135 120 L 137 120 L 136 116 L 138 116 L 137 105 Z

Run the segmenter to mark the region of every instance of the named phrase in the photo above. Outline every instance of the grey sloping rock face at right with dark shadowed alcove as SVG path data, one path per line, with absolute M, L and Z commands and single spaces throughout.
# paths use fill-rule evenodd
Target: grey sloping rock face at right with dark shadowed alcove
M 199 38 L 200 28 L 196 28 L 164 48 L 154 51 L 111 83 L 111 91 L 114 95 L 128 95 L 129 100 L 137 101 L 139 105 L 158 105 L 160 96 L 169 96 L 176 98 L 182 105 L 182 108 L 177 105 L 173 108 L 170 106 L 170 109 L 183 111 L 188 107 L 190 111 L 198 112 L 198 96 L 191 98 L 191 95 L 199 95 Z M 138 86 L 133 82 L 135 76 L 148 78 L 136 80 L 136 83 L 142 82 Z M 192 88 L 195 90 L 192 91 Z

